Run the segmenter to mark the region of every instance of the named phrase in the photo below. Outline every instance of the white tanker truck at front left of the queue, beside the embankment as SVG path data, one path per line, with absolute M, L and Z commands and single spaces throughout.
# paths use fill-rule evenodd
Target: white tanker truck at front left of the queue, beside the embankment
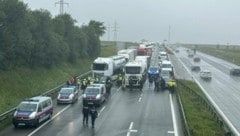
M 98 57 L 92 64 L 92 75 L 96 76 L 113 76 L 122 72 L 126 59 L 124 56 L 115 55 L 111 57 Z

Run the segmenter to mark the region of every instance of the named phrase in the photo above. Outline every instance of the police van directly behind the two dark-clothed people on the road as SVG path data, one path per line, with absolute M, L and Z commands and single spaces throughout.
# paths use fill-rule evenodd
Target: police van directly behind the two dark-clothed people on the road
M 106 95 L 106 87 L 104 84 L 92 84 L 84 91 L 83 105 L 100 106 L 106 101 Z

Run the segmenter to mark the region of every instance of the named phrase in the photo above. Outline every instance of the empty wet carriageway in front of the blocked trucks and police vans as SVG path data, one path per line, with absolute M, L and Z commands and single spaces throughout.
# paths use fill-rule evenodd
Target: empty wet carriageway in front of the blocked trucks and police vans
M 82 96 L 73 105 L 57 105 L 54 115 L 38 128 L 13 125 L 1 136 L 183 136 L 175 95 L 155 92 L 145 82 L 142 91 L 114 86 L 110 98 L 97 110 L 95 128 L 83 125 Z

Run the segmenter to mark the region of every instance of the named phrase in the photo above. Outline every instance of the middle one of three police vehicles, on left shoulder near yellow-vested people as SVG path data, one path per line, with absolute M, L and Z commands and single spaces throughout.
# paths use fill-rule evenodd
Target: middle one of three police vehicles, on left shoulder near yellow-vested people
M 57 104 L 74 103 L 78 100 L 79 89 L 76 86 L 66 86 L 61 88 L 57 97 Z

